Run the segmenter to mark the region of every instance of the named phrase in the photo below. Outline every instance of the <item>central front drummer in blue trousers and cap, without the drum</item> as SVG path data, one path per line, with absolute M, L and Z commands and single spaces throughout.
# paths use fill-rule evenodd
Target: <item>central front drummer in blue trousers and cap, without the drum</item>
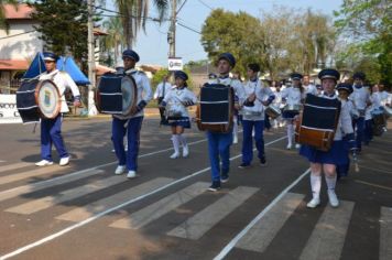
M 229 73 L 236 66 L 236 58 L 231 53 L 222 53 L 218 57 L 218 78 L 210 80 L 210 84 L 222 84 L 233 88 L 238 96 L 237 109 L 244 99 L 243 87 L 240 80 L 230 78 Z M 230 170 L 230 145 L 232 143 L 232 131 L 228 133 L 217 133 L 207 131 L 208 153 L 211 164 L 211 185 L 208 188 L 216 192 L 220 188 L 220 183 L 229 180 Z M 221 166 L 220 166 L 221 161 Z

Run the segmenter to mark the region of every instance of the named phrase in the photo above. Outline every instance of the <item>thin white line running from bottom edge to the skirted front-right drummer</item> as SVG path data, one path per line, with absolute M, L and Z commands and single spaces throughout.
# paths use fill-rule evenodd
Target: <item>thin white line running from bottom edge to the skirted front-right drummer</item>
M 237 242 L 251 229 L 259 220 L 262 218 L 271 208 L 282 199 L 282 197 L 292 189 L 301 180 L 303 180 L 308 173 L 311 169 L 307 169 L 300 177 L 297 177 L 292 184 L 290 184 L 285 189 L 281 192 L 258 216 L 255 216 L 252 221 L 250 221 L 247 227 L 244 227 L 214 259 L 224 259 L 230 250 L 237 245 Z

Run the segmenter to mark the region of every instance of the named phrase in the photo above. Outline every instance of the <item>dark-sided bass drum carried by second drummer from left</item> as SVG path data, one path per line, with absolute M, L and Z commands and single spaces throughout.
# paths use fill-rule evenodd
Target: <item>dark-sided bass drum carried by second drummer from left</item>
M 137 106 L 138 88 L 132 76 L 104 74 L 96 91 L 97 108 L 101 113 L 132 116 Z

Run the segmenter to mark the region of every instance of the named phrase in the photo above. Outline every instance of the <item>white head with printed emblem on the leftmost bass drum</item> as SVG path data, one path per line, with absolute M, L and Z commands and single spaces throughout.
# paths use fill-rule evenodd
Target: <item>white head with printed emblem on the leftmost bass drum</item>
M 35 89 L 35 100 L 43 118 L 57 117 L 61 109 L 61 97 L 56 85 L 52 80 L 42 80 Z

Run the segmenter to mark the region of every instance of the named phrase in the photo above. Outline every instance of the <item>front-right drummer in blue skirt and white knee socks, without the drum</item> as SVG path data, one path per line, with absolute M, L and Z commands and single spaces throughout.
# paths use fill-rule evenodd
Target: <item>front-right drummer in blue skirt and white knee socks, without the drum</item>
M 322 80 L 324 89 L 324 94 L 320 97 L 328 99 L 337 98 L 335 86 L 339 77 L 340 74 L 335 69 L 323 69 L 319 72 L 318 78 Z M 300 154 L 307 158 L 311 163 L 311 186 L 313 198 L 307 204 L 307 207 L 309 208 L 315 208 L 320 204 L 319 193 L 322 188 L 322 171 L 324 171 L 325 174 L 329 204 L 333 207 L 339 206 L 339 201 L 335 193 L 336 165 L 347 163 L 347 150 L 344 148 L 344 142 L 341 141 L 345 134 L 347 134 L 348 140 L 350 140 L 350 148 L 355 148 L 351 118 L 347 108 L 347 106 L 341 106 L 334 142 L 328 152 L 316 150 L 309 145 L 302 145 L 300 150 Z

